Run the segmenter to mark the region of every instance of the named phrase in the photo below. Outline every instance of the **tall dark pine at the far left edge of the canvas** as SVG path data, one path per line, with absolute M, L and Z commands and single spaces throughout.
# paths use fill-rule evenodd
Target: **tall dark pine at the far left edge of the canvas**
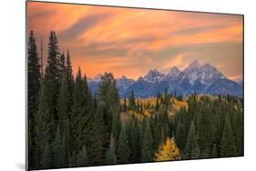
M 27 45 L 27 105 L 28 105 L 28 164 L 36 167 L 36 145 L 35 145 L 35 115 L 38 109 L 38 98 L 41 81 L 40 65 L 37 56 L 36 38 L 31 31 Z

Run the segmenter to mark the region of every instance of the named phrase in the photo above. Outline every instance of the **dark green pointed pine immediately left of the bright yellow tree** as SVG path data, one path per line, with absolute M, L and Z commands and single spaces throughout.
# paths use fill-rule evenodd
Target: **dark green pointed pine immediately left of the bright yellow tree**
M 145 135 L 143 138 L 143 144 L 141 149 L 141 162 L 150 162 L 153 160 L 154 151 L 153 151 L 153 136 L 149 120 L 147 121 L 147 126 L 145 130 Z

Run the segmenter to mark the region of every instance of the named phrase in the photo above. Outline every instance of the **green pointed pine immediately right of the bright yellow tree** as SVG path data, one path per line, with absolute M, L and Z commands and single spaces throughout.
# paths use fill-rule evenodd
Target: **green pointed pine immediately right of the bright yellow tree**
M 194 121 L 191 121 L 189 126 L 189 136 L 185 148 L 185 158 L 186 159 L 194 159 L 199 157 L 198 156 L 198 142 L 197 142 L 197 135 L 196 135 L 196 128 L 194 125 Z

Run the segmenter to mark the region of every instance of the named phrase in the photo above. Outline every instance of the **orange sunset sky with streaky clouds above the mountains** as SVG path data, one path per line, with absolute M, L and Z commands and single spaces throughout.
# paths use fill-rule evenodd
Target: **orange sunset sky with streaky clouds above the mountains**
M 199 59 L 242 79 L 242 15 L 28 2 L 27 22 L 38 47 L 43 40 L 45 61 L 53 30 L 60 51 L 70 51 L 74 72 L 80 66 L 87 77 L 111 72 L 137 79 Z

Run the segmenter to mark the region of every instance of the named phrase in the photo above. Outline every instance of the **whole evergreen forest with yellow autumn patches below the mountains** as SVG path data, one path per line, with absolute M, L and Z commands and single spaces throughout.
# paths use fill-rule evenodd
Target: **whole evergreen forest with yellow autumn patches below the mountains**
M 120 98 L 111 73 L 93 95 L 55 32 L 42 72 L 35 37 L 31 31 L 27 46 L 29 169 L 243 156 L 243 98 L 168 89 Z

